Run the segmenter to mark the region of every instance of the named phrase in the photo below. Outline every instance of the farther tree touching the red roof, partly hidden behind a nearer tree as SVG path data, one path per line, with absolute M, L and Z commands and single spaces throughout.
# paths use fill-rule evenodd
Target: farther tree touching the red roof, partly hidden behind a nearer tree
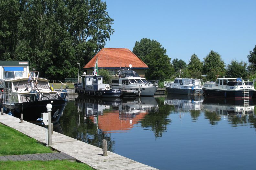
M 166 50 L 159 42 L 148 38 L 142 38 L 140 42 L 135 42 L 135 45 L 133 47 L 133 54 L 135 54 L 144 62 L 145 56 L 149 55 L 153 48 L 162 48 L 166 53 Z

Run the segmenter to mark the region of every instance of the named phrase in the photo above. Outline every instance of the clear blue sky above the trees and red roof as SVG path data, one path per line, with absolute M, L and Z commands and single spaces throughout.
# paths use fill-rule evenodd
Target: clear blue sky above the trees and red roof
M 248 62 L 256 45 L 256 0 L 106 0 L 115 30 L 107 48 L 128 48 L 136 41 L 158 41 L 173 60 L 187 64 L 196 53 L 203 61 L 210 50 L 225 64 Z M 172 61 L 171 60 L 171 61 Z

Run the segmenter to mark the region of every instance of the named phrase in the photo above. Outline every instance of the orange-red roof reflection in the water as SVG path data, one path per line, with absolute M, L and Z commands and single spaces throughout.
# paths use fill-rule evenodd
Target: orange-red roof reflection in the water
M 112 131 L 124 131 L 129 130 L 134 124 L 138 123 L 147 113 L 138 113 L 134 117 L 120 118 L 119 111 L 104 112 L 103 115 L 99 115 L 98 125 L 103 132 L 111 133 Z M 93 120 L 93 116 L 90 116 Z

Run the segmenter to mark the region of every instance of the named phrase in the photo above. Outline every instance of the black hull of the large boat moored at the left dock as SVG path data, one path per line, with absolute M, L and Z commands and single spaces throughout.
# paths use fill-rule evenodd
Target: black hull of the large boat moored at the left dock
M 23 120 L 35 122 L 39 117 L 41 117 L 41 113 L 47 112 L 46 105 L 51 104 L 51 115 L 54 116 L 54 114 L 56 113 L 55 116 L 52 117 L 52 123 L 56 124 L 59 122 L 59 118 L 65 108 L 66 102 L 67 101 L 65 100 L 42 100 L 35 102 L 16 103 L 15 105 L 8 105 L 2 103 L 2 105 L 5 113 L 20 118 L 20 114 L 23 110 Z

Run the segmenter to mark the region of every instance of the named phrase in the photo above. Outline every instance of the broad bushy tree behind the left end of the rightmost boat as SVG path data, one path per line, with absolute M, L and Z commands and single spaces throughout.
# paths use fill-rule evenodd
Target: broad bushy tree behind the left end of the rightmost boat
M 211 50 L 204 58 L 203 74 L 207 75 L 207 80 L 211 81 L 215 81 L 217 76 L 225 74 L 225 63 L 217 52 Z

